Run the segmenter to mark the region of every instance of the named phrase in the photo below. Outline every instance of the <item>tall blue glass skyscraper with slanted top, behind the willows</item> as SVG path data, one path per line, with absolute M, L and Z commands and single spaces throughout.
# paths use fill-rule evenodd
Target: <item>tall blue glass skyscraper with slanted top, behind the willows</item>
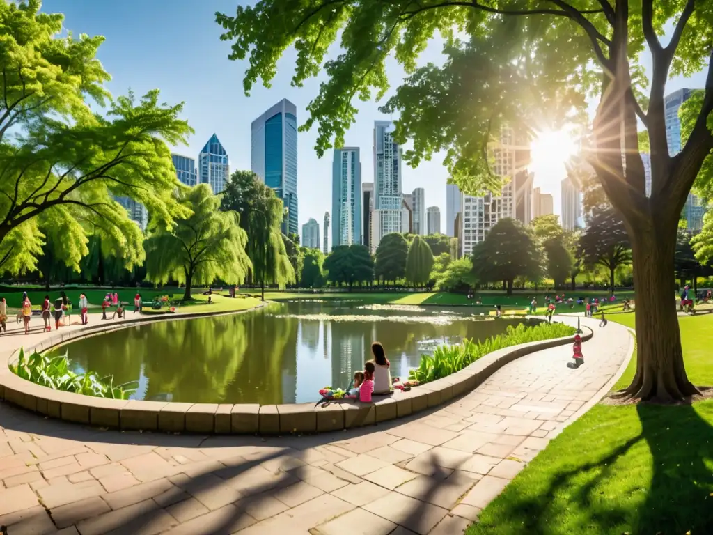
M 285 234 L 297 233 L 297 107 L 286 98 L 252 121 L 252 172 L 287 208 Z

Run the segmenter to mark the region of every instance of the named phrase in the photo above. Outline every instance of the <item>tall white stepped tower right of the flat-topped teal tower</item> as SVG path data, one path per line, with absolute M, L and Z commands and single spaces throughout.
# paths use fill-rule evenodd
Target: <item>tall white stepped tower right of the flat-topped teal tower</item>
M 371 248 L 386 234 L 401 232 L 401 147 L 391 121 L 374 121 L 374 215 Z

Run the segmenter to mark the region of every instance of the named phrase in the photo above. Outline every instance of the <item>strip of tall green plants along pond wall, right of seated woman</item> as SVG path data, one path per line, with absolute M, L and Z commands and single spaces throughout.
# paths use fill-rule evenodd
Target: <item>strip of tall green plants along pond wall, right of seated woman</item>
M 416 379 L 421 384 L 435 381 L 463 370 L 481 357 L 503 347 L 574 334 L 574 327 L 562 323 L 540 323 L 534 327 L 525 327 L 523 323 L 517 327 L 510 325 L 504 335 L 493 336 L 483 342 L 463 340 L 462 344 L 441 345 L 433 355 L 421 355 L 421 365 L 409 372 L 409 379 Z

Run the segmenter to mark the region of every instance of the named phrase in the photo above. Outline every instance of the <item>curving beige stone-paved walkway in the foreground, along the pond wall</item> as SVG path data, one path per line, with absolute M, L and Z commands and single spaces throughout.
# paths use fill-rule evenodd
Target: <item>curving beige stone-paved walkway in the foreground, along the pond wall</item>
M 9 535 L 462 533 L 630 355 L 624 327 L 582 321 L 595 330 L 583 367 L 566 367 L 569 346 L 534 353 L 432 412 L 344 432 L 115 432 L 0 402 L 0 526 Z

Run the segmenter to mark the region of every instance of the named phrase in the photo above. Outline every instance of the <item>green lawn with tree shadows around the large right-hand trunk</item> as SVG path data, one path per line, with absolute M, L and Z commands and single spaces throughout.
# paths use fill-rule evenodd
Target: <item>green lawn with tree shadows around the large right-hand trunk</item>
M 634 315 L 610 320 L 633 325 Z M 713 315 L 680 318 L 694 384 L 713 384 Z M 629 384 L 635 357 L 615 388 Z M 598 404 L 483 510 L 468 535 L 713 533 L 713 400 Z

